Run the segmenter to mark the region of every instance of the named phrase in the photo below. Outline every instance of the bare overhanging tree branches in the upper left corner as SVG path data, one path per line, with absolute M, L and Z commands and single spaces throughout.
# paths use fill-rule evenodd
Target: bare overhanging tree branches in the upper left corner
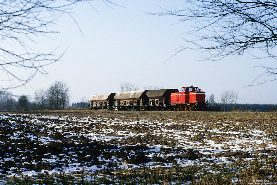
M 55 49 L 34 51 L 40 36 L 47 38 L 58 33 L 50 26 L 63 14 L 71 16 L 77 3 L 90 1 L 0 0 L 0 90 L 24 86 L 37 73 L 46 75 L 44 67 L 58 61 L 63 54 L 55 54 Z M 113 4 L 109 0 L 102 1 Z

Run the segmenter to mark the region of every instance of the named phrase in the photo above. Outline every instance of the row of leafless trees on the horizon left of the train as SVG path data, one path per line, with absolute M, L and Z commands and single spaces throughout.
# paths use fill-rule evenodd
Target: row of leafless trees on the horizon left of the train
M 16 100 L 12 94 L 0 91 L 0 111 L 63 110 L 69 107 L 70 96 L 69 86 L 63 81 L 55 81 L 46 90 L 36 90 L 34 99 L 21 95 Z

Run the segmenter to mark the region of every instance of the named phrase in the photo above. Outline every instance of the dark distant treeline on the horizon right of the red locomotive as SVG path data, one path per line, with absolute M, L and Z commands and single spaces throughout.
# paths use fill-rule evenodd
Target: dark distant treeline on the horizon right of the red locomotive
M 210 106 L 210 110 L 239 112 L 277 112 L 277 104 L 236 104 L 234 108 L 233 105 L 219 103 L 215 106 Z

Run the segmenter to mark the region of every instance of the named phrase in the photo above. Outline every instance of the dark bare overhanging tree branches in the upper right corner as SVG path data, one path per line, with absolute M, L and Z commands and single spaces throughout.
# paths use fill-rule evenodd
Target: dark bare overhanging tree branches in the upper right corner
M 177 53 L 184 49 L 197 49 L 202 52 L 204 60 L 220 60 L 229 55 L 242 55 L 246 52 L 255 58 L 277 59 L 276 0 L 186 0 L 183 7 L 162 9 L 161 13 L 150 13 L 177 16 L 180 17 L 180 23 L 193 25 L 193 30 L 186 32 L 189 36 L 184 38 L 193 46 L 187 47 L 186 44 L 180 47 Z M 264 55 L 261 56 L 261 52 L 257 52 L 257 49 Z M 275 76 L 277 68 L 260 67 L 265 68 L 261 76 L 268 78 L 264 82 L 277 79 Z

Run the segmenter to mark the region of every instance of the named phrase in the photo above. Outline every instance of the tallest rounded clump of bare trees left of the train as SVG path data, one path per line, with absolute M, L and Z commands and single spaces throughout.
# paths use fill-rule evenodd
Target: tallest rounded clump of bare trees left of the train
M 46 97 L 48 106 L 52 110 L 62 110 L 69 104 L 71 93 L 66 82 L 55 81 L 47 91 Z

